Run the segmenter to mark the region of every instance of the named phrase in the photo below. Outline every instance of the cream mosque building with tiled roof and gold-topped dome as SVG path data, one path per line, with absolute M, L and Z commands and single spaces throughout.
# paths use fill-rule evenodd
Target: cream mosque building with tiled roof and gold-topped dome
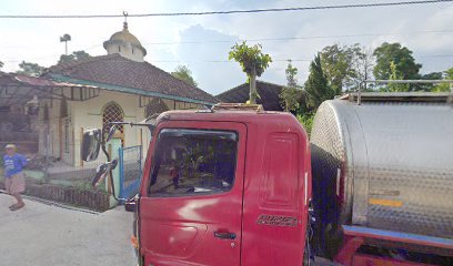
M 87 129 L 103 127 L 111 121 L 140 122 L 157 112 L 202 109 L 218 102 L 201 89 L 145 62 L 147 50 L 129 32 L 127 23 L 103 47 L 108 55 L 57 64 L 43 75 L 68 86 L 52 89 L 53 96 L 40 102 L 40 154 L 81 166 L 81 135 Z M 143 144 L 145 151 L 149 136 L 144 131 L 122 127 L 123 145 Z

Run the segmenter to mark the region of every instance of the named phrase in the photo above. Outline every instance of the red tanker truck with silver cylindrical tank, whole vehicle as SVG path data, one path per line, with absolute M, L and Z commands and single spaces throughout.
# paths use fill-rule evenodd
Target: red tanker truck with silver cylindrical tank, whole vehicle
M 417 193 L 435 197 L 432 193 L 442 191 L 445 195 L 426 200 L 425 205 L 407 195 L 403 187 L 406 176 L 401 174 L 404 168 L 395 167 L 407 166 L 404 158 L 386 166 L 373 165 L 389 163 L 385 156 L 393 160 L 392 154 L 376 155 L 376 151 L 385 150 L 385 142 L 397 145 L 405 141 L 391 132 L 390 139 L 375 142 L 373 137 L 379 134 L 372 130 L 392 116 L 397 120 L 387 122 L 387 133 L 391 126 L 401 130 L 407 109 L 401 109 L 401 103 L 382 105 L 401 111 L 395 115 L 395 110 L 376 105 L 379 100 L 370 98 L 374 100 L 368 104 L 365 99 L 362 95 L 361 105 L 354 103 L 354 96 L 324 102 L 312 132 L 313 154 L 305 130 L 292 114 L 251 110 L 241 104 L 170 111 L 152 122 L 138 124 L 148 126 L 153 135 L 140 193 L 128 203 L 135 209 L 132 242 L 139 264 L 310 265 L 320 264 L 314 255 L 321 255 L 332 265 L 452 265 L 453 227 L 449 227 L 451 221 L 443 218 L 453 217 L 453 164 L 443 165 L 440 176 L 430 170 L 437 186 L 429 192 L 423 192 L 422 185 L 433 182 L 421 181 L 426 171 L 410 171 L 421 181 L 422 190 L 413 188 Z M 446 117 L 453 109 L 427 99 L 427 113 L 419 102 L 410 101 L 404 106 L 424 120 L 435 117 L 451 134 L 453 116 Z M 380 110 L 381 114 L 375 113 Z M 374 122 L 366 116 L 373 114 L 378 115 Z M 412 125 L 419 122 L 406 120 L 405 126 L 413 130 Z M 445 136 L 435 132 L 422 135 Z M 99 131 L 84 134 L 84 160 L 97 157 L 102 135 Z M 451 149 L 453 141 L 449 140 L 434 150 Z M 436 141 L 430 141 L 430 145 Z M 420 146 L 427 153 L 432 151 Z M 393 152 L 404 155 L 403 151 Z M 419 161 L 411 161 L 414 162 Z M 104 164 L 100 173 L 114 164 Z M 370 177 L 374 166 L 374 177 L 385 182 Z M 380 172 L 380 167 L 384 171 Z M 361 170 L 366 174 L 360 175 Z M 400 173 L 402 177 L 385 180 L 385 173 Z M 442 184 L 449 190 L 439 187 Z M 362 202 L 366 207 L 359 204 Z M 314 212 L 309 212 L 311 204 Z M 434 212 L 425 215 L 423 212 L 430 206 Z M 402 226 L 404 223 L 407 228 Z M 443 237 L 439 235 L 442 229 Z

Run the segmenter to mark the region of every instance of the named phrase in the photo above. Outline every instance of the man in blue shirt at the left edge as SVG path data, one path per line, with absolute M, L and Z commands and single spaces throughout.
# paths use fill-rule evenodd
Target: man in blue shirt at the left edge
M 4 186 L 8 194 L 18 201 L 17 204 L 10 206 L 11 211 L 17 211 L 26 205 L 20 193 L 26 191 L 26 180 L 22 168 L 27 164 L 27 158 L 26 156 L 16 153 L 14 144 L 8 144 L 4 149 L 7 152 L 3 156 Z

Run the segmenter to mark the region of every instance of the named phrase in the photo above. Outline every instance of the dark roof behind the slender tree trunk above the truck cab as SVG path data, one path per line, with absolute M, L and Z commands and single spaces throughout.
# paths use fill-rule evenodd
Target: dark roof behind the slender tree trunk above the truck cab
M 283 111 L 280 104 L 280 93 L 283 85 L 278 85 L 264 81 L 256 81 L 256 90 L 260 95 L 258 104 L 262 104 L 265 111 Z M 249 101 L 250 84 L 243 83 L 239 86 L 220 93 L 217 98 L 225 103 L 245 103 Z

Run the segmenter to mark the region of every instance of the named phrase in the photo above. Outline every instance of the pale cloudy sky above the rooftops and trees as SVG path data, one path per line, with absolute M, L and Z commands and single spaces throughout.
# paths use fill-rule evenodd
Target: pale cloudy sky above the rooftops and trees
M 0 14 L 198 12 L 393 1 L 397 0 L 0 0 Z M 147 49 L 148 62 L 168 72 L 178 64 L 184 64 L 191 69 L 199 86 L 214 95 L 246 80 L 240 65 L 228 60 L 231 47 L 241 40 L 262 44 L 263 52 L 269 53 L 274 62 L 259 80 L 278 84 L 286 83 L 286 60 L 293 60 L 293 65 L 299 69 L 298 80 L 303 83 L 316 52 L 335 43 L 360 43 L 374 49 L 383 42 L 401 42 L 414 52 L 416 62 L 423 65 L 422 73 L 453 66 L 453 2 L 256 14 L 128 18 L 128 22 L 130 32 Z M 0 19 L 2 71 L 17 71 L 22 60 L 44 66 L 54 64 L 64 53 L 64 44 L 60 42 L 64 33 L 72 37 L 68 44 L 70 52 L 85 50 L 91 55 L 107 54 L 102 43 L 120 31 L 122 23 L 123 18 Z M 275 38 L 285 40 L 269 40 Z

